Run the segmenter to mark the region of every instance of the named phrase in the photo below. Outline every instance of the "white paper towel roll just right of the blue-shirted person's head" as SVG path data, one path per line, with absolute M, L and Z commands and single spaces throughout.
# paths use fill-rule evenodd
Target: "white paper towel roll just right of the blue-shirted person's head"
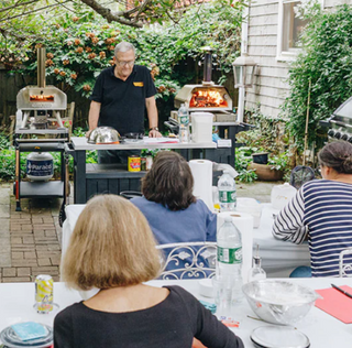
M 212 162 L 208 160 L 191 160 L 188 162 L 194 176 L 194 195 L 201 199 L 211 211 L 212 203 Z

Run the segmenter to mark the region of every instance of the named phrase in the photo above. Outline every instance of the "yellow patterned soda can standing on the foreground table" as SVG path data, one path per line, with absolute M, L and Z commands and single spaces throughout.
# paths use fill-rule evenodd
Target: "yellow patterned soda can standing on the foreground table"
M 47 314 L 53 311 L 54 281 L 51 275 L 40 274 L 35 279 L 36 312 Z

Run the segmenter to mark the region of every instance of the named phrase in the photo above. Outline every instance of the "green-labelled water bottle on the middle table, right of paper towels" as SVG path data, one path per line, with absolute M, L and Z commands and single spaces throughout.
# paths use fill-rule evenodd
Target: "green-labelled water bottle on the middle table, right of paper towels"
M 237 206 L 235 182 L 229 174 L 229 171 L 223 171 L 223 174 L 218 181 L 220 211 L 234 210 Z

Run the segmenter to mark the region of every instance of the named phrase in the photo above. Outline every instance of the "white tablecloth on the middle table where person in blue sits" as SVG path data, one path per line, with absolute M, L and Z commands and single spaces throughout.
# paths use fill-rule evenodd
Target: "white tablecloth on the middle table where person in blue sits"
M 84 204 L 74 204 L 66 207 L 67 218 L 63 226 L 62 255 L 68 247 L 69 237 L 85 206 Z M 255 254 L 255 248 L 258 244 L 260 255 L 263 260 L 262 265 L 270 278 L 288 276 L 296 267 L 310 264 L 308 244 L 297 246 L 273 237 L 273 214 L 277 213 L 278 210 L 273 209 L 270 204 L 263 204 L 261 225 L 253 229 L 253 254 Z

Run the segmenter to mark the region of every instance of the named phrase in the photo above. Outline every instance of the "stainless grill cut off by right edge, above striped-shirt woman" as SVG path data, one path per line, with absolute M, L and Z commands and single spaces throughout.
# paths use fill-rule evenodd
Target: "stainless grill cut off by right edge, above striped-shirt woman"
M 328 129 L 330 140 L 345 140 L 352 143 L 352 97 L 344 101 L 328 120 L 320 121 Z

